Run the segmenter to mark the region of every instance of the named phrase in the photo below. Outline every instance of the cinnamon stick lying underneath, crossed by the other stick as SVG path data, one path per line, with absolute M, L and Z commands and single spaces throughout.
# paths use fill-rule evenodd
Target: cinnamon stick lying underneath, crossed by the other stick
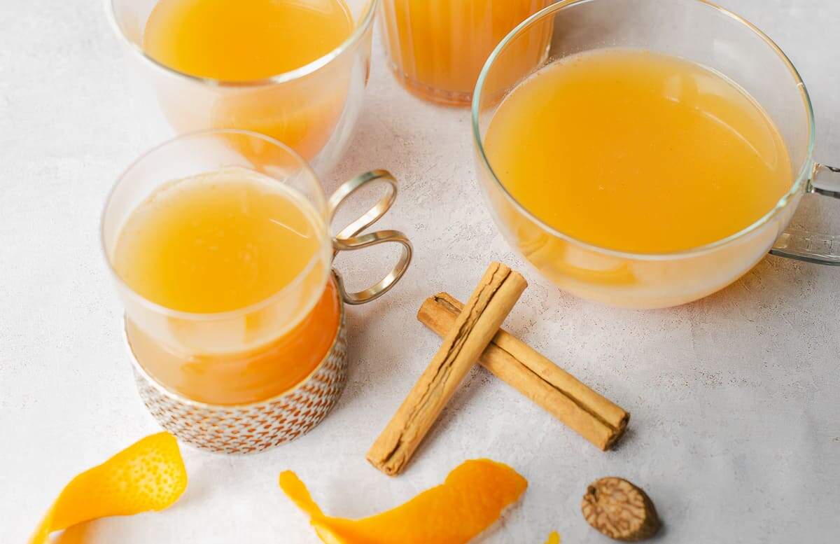
M 439 293 L 423 303 L 417 319 L 444 336 L 454 326 L 462 306 L 453 296 Z M 612 447 L 627 428 L 630 415 L 620 406 L 509 332 L 496 332 L 480 363 L 601 450 Z

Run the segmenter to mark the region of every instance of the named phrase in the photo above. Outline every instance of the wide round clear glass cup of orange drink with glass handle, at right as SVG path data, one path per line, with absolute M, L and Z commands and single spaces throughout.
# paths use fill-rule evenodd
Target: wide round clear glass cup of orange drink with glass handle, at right
M 517 64 L 547 27 L 547 58 Z M 554 4 L 501 41 L 475 95 L 496 224 L 574 295 L 659 308 L 721 290 L 769 250 L 840 264 L 836 235 L 785 230 L 806 192 L 840 195 L 840 170 L 812 158 L 805 85 L 714 4 Z

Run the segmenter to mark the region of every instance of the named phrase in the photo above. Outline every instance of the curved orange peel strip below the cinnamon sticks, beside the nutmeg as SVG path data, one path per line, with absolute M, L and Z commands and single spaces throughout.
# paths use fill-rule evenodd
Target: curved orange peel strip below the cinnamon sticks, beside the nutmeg
M 465 544 L 495 523 L 528 481 L 505 464 L 474 459 L 454 468 L 444 484 L 360 520 L 324 515 L 291 471 L 281 473 L 280 487 L 326 544 Z

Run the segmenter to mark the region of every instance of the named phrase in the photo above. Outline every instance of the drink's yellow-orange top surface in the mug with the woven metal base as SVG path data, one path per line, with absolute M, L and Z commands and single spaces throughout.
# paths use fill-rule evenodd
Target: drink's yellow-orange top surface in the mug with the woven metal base
M 120 230 L 114 269 L 171 310 L 216 313 L 264 301 L 322 252 L 323 225 L 302 196 L 230 168 L 162 186 Z M 302 282 L 318 291 L 323 281 Z

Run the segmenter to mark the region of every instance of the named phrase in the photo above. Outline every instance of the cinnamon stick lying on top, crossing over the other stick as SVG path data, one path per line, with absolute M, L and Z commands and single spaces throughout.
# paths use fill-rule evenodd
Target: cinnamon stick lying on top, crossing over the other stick
M 438 353 L 370 447 L 367 459 L 373 466 L 391 476 L 402 472 L 527 286 L 506 265 L 490 265 L 470 300 L 455 312 Z

